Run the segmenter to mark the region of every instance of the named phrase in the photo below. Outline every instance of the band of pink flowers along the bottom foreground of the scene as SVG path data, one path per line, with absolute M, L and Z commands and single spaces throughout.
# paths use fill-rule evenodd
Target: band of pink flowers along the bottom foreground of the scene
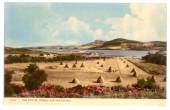
M 23 86 L 16 86 L 18 89 L 21 88 L 22 91 L 17 94 L 18 97 L 48 97 L 48 98 L 71 98 L 71 97 L 89 97 L 90 95 L 96 96 L 106 93 L 114 92 L 126 92 L 130 95 L 138 95 L 142 89 L 135 87 L 122 87 L 122 86 L 97 86 L 88 85 L 81 86 L 77 85 L 72 88 L 63 88 L 60 90 L 60 86 L 54 85 L 42 85 L 37 89 L 27 90 Z

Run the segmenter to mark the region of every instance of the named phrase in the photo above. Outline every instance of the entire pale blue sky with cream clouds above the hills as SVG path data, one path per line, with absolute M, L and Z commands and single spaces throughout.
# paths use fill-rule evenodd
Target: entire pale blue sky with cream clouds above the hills
M 6 3 L 5 46 L 166 41 L 165 4 Z

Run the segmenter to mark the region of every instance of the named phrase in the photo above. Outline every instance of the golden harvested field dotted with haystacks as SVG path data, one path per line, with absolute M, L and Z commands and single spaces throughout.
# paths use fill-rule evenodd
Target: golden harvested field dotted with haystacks
M 121 60 L 122 59 L 122 60 Z M 128 62 L 124 58 L 114 57 L 106 59 L 96 59 L 96 60 L 83 60 L 78 61 L 76 68 L 73 68 L 75 61 L 64 61 L 63 65 L 60 62 L 56 63 L 37 63 L 40 69 L 44 69 L 48 74 L 48 79 L 45 84 L 62 85 L 65 88 L 73 87 L 77 85 L 71 81 L 74 78 L 79 80 L 78 84 L 85 85 L 105 85 L 114 86 L 122 85 L 127 86 L 136 83 L 138 78 L 147 78 L 151 76 L 140 68 L 136 67 L 132 63 Z M 83 63 L 84 67 L 80 67 Z M 12 83 L 22 83 L 22 76 L 24 75 L 23 70 L 30 63 L 14 63 L 5 64 L 5 69 L 14 70 Z M 69 68 L 64 68 L 65 64 L 68 64 Z M 103 67 L 101 67 L 103 65 Z M 129 67 L 127 67 L 127 65 Z M 108 72 L 111 66 L 112 72 Z M 137 77 L 133 77 L 131 73 L 132 69 L 136 70 Z M 97 83 L 99 76 L 104 78 L 104 83 Z M 120 76 L 121 82 L 116 82 L 116 78 Z M 165 75 L 155 76 L 156 83 L 162 87 L 166 86 L 166 82 L 163 81 Z

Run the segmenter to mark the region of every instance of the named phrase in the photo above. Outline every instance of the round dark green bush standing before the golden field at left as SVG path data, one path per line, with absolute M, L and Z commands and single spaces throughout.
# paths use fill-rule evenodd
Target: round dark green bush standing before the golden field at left
M 45 71 L 39 69 L 36 64 L 30 64 L 25 69 L 25 73 L 26 74 L 23 76 L 22 81 L 24 82 L 25 87 L 29 90 L 38 88 L 47 80 L 47 74 Z

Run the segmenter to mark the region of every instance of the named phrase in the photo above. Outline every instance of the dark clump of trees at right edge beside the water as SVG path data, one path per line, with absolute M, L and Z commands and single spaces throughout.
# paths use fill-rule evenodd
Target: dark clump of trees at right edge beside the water
M 142 57 L 146 62 L 166 65 L 166 55 L 159 54 L 158 52 L 155 54 L 148 53 L 148 55 Z

